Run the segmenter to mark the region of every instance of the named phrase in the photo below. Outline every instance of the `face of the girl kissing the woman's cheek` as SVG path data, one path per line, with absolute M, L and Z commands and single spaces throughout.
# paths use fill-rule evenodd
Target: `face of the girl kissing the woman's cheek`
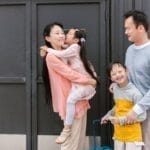
M 65 40 L 66 44 L 71 45 L 71 44 L 77 43 L 76 39 L 74 38 L 75 32 L 76 32 L 76 29 L 70 29 L 68 31 L 68 33 L 66 34 L 66 40 Z

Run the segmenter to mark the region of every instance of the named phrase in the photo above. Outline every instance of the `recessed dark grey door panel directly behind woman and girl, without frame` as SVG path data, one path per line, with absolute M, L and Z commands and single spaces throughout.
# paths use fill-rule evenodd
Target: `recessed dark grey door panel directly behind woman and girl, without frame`
M 104 4 L 102 4 L 104 6 Z M 100 33 L 101 21 L 104 23 L 105 13 L 101 10 L 101 3 L 97 2 L 90 2 L 90 3 L 44 3 L 43 1 L 39 3 L 35 3 L 33 6 L 33 26 L 35 27 L 35 31 L 33 36 L 35 36 L 35 51 L 37 52 L 38 48 L 44 44 L 42 32 L 46 24 L 58 21 L 64 24 L 66 29 L 71 27 L 77 27 L 85 29 L 87 32 L 87 54 L 89 59 L 94 64 L 96 71 L 100 72 L 102 68 L 100 68 L 100 59 L 103 60 L 105 57 L 105 52 L 101 52 L 100 44 L 102 43 L 105 46 L 105 41 L 100 41 L 101 36 L 105 39 L 105 33 Z M 102 15 L 102 14 L 103 15 Z M 102 15 L 102 16 L 101 16 Z M 102 17 L 102 18 L 101 18 Z M 103 24 L 104 25 L 104 24 Z M 105 26 L 103 26 L 105 31 Z M 37 39 L 36 39 L 37 37 Z M 33 46 L 34 47 L 34 46 Z M 103 53 L 103 55 L 101 55 Z M 38 122 L 38 134 L 58 134 L 62 128 L 62 122 L 59 120 L 57 114 L 52 112 L 52 108 L 50 108 L 50 112 L 48 112 L 48 108 L 44 105 L 44 94 L 43 94 L 43 85 L 41 82 L 41 70 L 42 70 L 42 63 L 41 58 L 36 53 L 36 57 L 38 60 L 38 68 L 35 70 L 37 72 L 37 122 Z M 102 58 L 100 58 L 102 57 Z M 36 59 L 36 58 L 35 58 Z M 105 65 L 105 62 L 102 62 Z M 35 83 L 36 84 L 36 81 Z M 100 88 L 98 88 L 100 91 Z M 35 92 L 36 93 L 36 92 Z M 93 119 L 93 115 L 97 116 L 100 101 L 100 94 L 97 94 L 95 98 L 91 101 L 91 105 L 93 105 L 90 110 L 89 116 L 89 128 L 91 128 L 91 119 Z M 43 117 L 44 116 L 44 117 Z M 88 130 L 89 133 L 91 130 Z

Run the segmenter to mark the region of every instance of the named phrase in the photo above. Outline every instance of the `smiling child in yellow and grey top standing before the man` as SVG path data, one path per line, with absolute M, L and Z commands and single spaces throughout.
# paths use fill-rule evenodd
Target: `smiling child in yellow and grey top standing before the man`
M 114 124 L 114 150 L 142 150 L 142 131 L 140 122 L 146 113 L 138 117 L 134 124 L 126 124 L 126 114 L 142 98 L 139 90 L 128 81 L 126 67 L 120 62 L 113 62 L 108 67 L 108 76 L 113 86 L 114 107 L 102 118 L 101 123 L 111 121 Z

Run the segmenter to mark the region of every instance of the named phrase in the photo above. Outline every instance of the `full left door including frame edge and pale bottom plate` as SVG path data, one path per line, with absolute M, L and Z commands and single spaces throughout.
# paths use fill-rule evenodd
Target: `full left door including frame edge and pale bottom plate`
M 0 149 L 5 150 L 29 150 L 31 145 L 29 3 L 0 1 Z

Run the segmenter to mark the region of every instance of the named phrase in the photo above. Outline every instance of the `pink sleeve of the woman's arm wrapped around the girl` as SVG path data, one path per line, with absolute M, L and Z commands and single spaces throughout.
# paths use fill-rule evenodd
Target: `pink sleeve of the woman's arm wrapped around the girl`
M 70 67 L 65 65 L 61 60 L 59 60 L 53 54 L 48 53 L 46 56 L 47 66 L 53 69 L 58 74 L 62 75 L 64 78 L 70 80 L 71 82 L 87 84 L 89 82 L 89 78 L 85 75 L 82 75 Z

